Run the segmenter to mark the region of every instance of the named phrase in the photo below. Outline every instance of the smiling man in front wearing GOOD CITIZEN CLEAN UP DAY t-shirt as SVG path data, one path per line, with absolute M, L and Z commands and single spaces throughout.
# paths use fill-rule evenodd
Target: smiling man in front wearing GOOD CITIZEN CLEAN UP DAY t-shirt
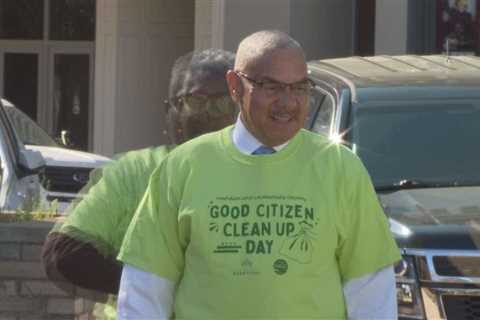
M 301 46 L 256 32 L 227 82 L 236 123 L 150 178 L 119 254 L 119 318 L 396 318 L 400 254 L 370 178 L 302 129 L 313 84 Z

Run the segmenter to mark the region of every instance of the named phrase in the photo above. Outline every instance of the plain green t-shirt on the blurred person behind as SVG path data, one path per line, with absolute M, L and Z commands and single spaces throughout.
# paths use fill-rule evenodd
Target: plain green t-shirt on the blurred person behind
M 154 169 L 170 146 L 130 151 L 96 169 L 83 197 L 68 209 L 59 227 L 78 240 L 93 244 L 102 254 L 116 256 Z

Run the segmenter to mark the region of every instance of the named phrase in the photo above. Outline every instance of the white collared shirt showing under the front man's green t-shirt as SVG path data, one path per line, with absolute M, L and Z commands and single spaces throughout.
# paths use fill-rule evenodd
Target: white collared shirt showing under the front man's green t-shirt
M 235 147 L 252 154 L 262 146 L 237 118 L 232 130 Z M 280 151 L 288 142 L 273 147 Z M 396 284 L 393 266 L 352 279 L 343 293 L 348 319 L 397 319 Z M 175 284 L 153 273 L 124 265 L 118 294 L 118 319 L 169 319 L 173 311 Z

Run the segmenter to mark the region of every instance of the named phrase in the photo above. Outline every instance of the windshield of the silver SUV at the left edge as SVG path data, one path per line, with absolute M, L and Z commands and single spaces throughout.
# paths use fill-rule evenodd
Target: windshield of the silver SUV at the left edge
M 24 145 L 58 147 L 59 145 L 35 121 L 12 105 L 4 110 L 15 130 L 17 138 Z

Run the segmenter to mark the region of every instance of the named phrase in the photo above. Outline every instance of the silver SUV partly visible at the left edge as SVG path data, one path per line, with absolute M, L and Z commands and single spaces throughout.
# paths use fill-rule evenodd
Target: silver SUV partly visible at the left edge
M 61 213 L 109 158 L 59 145 L 7 100 L 0 104 L 0 209 Z M 33 208 L 30 208 L 32 207 Z

